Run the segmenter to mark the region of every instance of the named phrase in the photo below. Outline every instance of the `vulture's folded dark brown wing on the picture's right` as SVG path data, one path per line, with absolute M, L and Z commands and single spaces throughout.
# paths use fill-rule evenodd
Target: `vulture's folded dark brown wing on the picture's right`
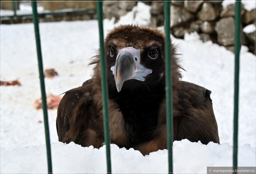
M 179 100 L 182 118 L 178 124 L 177 140 L 220 143 L 217 122 L 210 98 L 211 91 L 189 82 L 180 82 Z

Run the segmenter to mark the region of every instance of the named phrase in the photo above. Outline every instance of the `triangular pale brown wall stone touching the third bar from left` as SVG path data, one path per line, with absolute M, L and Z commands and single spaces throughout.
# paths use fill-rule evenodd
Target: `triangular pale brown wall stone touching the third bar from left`
M 186 9 L 171 5 L 171 27 L 179 26 L 194 18 Z

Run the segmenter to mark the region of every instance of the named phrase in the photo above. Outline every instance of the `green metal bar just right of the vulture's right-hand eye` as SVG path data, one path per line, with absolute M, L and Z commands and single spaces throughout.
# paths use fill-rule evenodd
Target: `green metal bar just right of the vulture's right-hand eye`
M 165 93 L 167 114 L 167 148 L 169 173 L 172 173 L 172 141 L 173 141 L 173 115 L 172 115 L 172 56 L 170 40 L 170 1 L 164 1 L 165 22 Z

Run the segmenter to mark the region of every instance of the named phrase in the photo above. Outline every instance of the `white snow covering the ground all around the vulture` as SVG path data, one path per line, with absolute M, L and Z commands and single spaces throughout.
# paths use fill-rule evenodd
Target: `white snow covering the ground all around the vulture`
M 136 12 L 136 18 L 132 19 Z M 139 3 L 120 23 L 147 24 L 149 6 Z M 114 20 L 104 20 L 105 31 Z M 98 48 L 97 21 L 40 23 L 44 69 L 54 68 L 59 76 L 45 79 L 46 93 L 61 94 L 81 86 L 91 77 L 89 58 Z M 202 43 L 197 33 L 179 45 L 183 80 L 210 89 L 220 143 L 202 145 L 175 141 L 175 173 L 206 173 L 207 166 L 232 165 L 234 54 L 212 42 Z M 72 76 L 71 76 L 72 75 Z M 1 80 L 18 79 L 21 86 L 1 86 L 1 172 L 46 173 L 46 150 L 42 110 L 33 102 L 40 98 L 34 26 L 1 25 Z M 255 166 L 255 56 L 242 46 L 240 54 L 239 166 Z M 83 148 L 58 142 L 56 110 L 48 110 L 55 173 L 106 172 L 105 147 Z M 167 173 L 167 151 L 142 156 L 133 149 L 111 146 L 114 173 Z

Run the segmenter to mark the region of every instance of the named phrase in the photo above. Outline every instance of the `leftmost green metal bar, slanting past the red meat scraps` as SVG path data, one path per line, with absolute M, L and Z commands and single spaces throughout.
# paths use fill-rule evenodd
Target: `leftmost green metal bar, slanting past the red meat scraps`
M 44 131 L 45 131 L 45 138 L 46 138 L 48 173 L 52 173 L 51 144 L 50 144 L 46 94 L 45 94 L 45 87 L 44 87 L 44 72 L 43 72 L 44 69 L 43 69 L 43 61 L 42 61 L 42 53 L 41 53 L 38 15 L 37 15 L 36 1 L 32 1 L 31 3 L 32 3 L 32 9 L 33 9 L 33 22 L 34 22 L 35 35 L 36 35 L 36 50 L 37 50 L 39 77 L 40 77 L 40 84 L 41 84 L 42 105 L 43 105 L 43 113 L 44 113 Z

